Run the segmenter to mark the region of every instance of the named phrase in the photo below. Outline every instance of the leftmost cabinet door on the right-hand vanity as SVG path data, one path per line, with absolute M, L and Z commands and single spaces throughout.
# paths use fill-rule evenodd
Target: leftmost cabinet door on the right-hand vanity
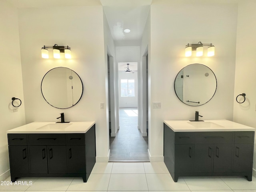
M 176 144 L 175 145 L 175 173 L 192 173 L 194 168 L 194 145 Z

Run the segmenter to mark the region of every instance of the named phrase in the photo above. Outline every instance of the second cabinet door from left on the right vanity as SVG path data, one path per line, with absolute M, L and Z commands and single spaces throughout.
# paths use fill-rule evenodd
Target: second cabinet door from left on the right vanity
M 208 173 L 213 171 L 213 144 L 195 144 L 194 172 Z

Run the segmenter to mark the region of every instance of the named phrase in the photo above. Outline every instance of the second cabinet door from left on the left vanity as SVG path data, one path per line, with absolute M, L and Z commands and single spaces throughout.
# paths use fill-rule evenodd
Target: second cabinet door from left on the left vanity
M 30 173 L 48 173 L 47 165 L 47 147 L 46 146 L 28 146 Z

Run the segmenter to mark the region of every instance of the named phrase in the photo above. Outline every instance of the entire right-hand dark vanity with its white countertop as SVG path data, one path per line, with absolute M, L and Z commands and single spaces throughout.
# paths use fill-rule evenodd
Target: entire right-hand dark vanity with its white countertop
M 164 121 L 164 163 L 180 176 L 246 176 L 252 180 L 254 131 L 228 120 Z

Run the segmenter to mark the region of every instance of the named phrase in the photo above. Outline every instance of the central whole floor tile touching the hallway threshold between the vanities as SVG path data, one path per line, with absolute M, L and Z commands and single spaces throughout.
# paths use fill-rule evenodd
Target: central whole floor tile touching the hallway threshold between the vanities
M 143 162 L 115 162 L 112 174 L 145 173 Z

